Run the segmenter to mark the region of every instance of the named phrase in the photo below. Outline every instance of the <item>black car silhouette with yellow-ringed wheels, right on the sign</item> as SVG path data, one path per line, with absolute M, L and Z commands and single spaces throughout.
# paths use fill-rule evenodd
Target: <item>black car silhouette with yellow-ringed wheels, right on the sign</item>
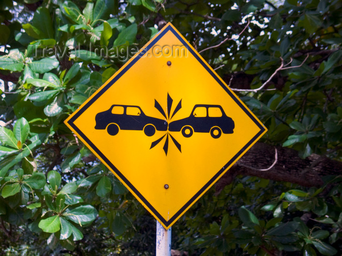
M 196 104 L 190 117 L 171 122 L 169 131 L 181 131 L 186 138 L 193 132 L 210 133 L 213 138 L 219 138 L 222 133 L 233 133 L 234 127 L 233 119 L 226 116 L 220 105 Z

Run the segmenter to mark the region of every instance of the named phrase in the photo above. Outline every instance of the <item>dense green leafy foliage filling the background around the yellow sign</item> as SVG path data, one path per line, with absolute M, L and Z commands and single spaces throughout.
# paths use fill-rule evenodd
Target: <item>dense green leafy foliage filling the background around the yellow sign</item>
M 204 50 L 232 87 L 257 89 L 288 63 L 262 90 L 238 92 L 268 127 L 262 140 L 302 158 L 341 160 L 342 2 L 276 5 L 2 0 L 0 254 L 153 255 L 153 217 L 63 121 L 125 63 L 127 46 L 141 48 L 164 20 Z M 26 10 L 11 20 L 18 6 Z M 119 56 L 90 55 L 90 43 L 119 47 Z M 74 49 L 70 56 L 65 46 Z M 301 188 L 237 177 L 177 221 L 173 248 L 189 255 L 341 255 L 341 177 L 324 182 Z

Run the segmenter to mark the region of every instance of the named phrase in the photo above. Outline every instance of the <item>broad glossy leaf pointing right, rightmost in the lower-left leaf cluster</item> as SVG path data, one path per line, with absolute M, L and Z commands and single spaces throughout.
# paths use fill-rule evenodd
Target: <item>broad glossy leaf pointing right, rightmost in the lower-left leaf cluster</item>
M 96 218 L 97 211 L 91 205 L 82 205 L 65 213 L 64 216 L 77 224 L 85 225 L 91 223 Z

